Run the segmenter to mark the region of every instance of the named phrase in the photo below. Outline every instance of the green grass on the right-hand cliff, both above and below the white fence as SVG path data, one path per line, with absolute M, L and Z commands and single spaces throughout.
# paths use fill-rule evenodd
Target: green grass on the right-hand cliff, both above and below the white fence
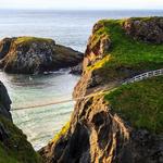
M 148 22 L 153 17 L 130 18 Z M 92 47 L 103 37 L 111 39 L 105 57 L 89 68 L 99 71 L 105 79 L 123 80 L 135 74 L 163 68 L 163 43 L 150 43 L 134 39 L 123 28 L 126 20 L 100 21 L 92 35 Z M 131 72 L 131 73 L 128 73 Z M 153 77 L 139 83 L 120 86 L 105 96 L 112 110 L 136 128 L 163 133 L 163 77 Z

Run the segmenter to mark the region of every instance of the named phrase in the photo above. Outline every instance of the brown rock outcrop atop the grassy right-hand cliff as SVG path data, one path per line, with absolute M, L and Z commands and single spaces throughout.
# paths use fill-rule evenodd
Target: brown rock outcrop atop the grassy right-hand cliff
M 163 42 L 163 18 L 129 18 L 124 23 L 124 29 L 135 39 L 147 42 Z

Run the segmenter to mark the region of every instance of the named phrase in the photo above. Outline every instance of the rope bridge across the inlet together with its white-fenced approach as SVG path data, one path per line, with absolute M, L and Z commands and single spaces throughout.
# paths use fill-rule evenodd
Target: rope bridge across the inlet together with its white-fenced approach
M 140 82 L 140 80 L 143 80 L 143 79 L 147 79 L 147 78 L 151 78 L 151 77 L 154 77 L 154 76 L 161 76 L 161 75 L 163 75 L 163 68 L 146 72 L 146 73 L 142 73 L 140 75 L 134 76 L 131 78 L 128 78 L 128 79 L 120 83 L 120 85 L 127 85 L 127 84 L 130 84 L 130 83 Z M 12 108 L 11 111 L 13 112 L 13 111 L 18 111 L 18 110 L 43 108 L 43 106 L 48 106 L 48 105 L 54 105 L 54 104 L 61 104 L 61 103 L 67 103 L 67 102 L 75 102 L 77 100 L 84 100 L 84 99 L 87 99 L 87 98 L 97 97 L 97 96 L 100 96 L 100 95 L 105 95 L 105 93 L 109 93 L 111 91 L 114 91 L 115 89 L 116 88 L 113 88 L 113 89 L 110 89 L 110 90 L 108 90 L 108 89 L 106 90 L 101 90 L 101 91 L 97 91 L 97 92 L 90 93 L 90 95 L 85 96 L 85 97 L 79 97 L 79 98 L 74 98 L 74 99 L 70 98 L 70 99 L 59 100 L 59 101 L 52 100 L 52 101 L 46 102 L 46 103 Z

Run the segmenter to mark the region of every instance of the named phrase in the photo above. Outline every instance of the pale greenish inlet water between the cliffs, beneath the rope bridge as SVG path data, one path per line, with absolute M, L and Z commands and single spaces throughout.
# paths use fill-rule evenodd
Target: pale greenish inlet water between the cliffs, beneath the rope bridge
M 67 71 L 50 75 L 7 75 L 0 72 L 0 78 L 8 87 L 13 101 L 12 108 L 48 103 L 70 99 L 78 76 Z M 74 103 L 42 106 L 28 110 L 14 110 L 14 123 L 23 129 L 35 149 L 45 146 L 70 120 Z

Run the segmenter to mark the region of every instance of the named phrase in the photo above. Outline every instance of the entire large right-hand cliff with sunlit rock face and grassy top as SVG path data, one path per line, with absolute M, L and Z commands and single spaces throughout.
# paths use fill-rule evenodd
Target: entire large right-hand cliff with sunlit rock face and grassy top
M 162 163 L 163 77 L 122 83 L 163 68 L 163 17 L 98 22 L 83 68 L 71 121 L 39 151 L 43 162 Z

